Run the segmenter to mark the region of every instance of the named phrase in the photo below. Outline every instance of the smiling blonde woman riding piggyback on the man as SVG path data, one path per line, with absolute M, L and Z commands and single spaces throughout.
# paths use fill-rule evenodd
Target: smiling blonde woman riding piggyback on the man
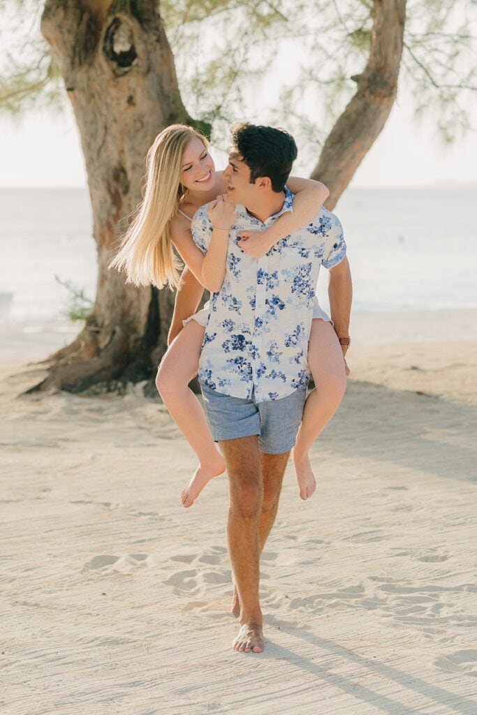
M 220 290 L 225 276 L 228 232 L 235 206 L 227 197 L 222 173 L 208 151 L 207 139 L 182 124 L 161 132 L 147 154 L 144 200 L 110 267 L 124 270 L 135 285 L 177 288 L 169 349 L 162 359 L 156 385 L 164 405 L 197 454 L 199 466 L 181 493 L 182 505 L 192 506 L 207 482 L 225 471 L 225 463 L 212 440 L 199 400 L 187 387 L 197 375 L 207 310 L 196 313 L 204 288 Z M 242 249 L 258 258 L 278 240 L 305 225 L 328 197 L 320 182 L 290 177 L 295 193 L 293 211 L 281 215 L 267 231 L 242 234 Z M 195 211 L 210 204 L 212 238 L 206 255 L 192 240 L 190 226 Z M 174 250 L 185 262 L 180 278 Z M 184 327 L 182 327 L 182 325 Z M 335 413 L 345 390 L 345 364 L 330 318 L 315 301 L 308 364 L 317 388 L 310 393 L 303 423 L 293 450 L 300 496 L 307 499 L 316 487 L 308 450 Z

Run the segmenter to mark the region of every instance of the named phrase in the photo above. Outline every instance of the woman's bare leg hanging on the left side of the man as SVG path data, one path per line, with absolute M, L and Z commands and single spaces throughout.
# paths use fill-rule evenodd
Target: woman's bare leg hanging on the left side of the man
M 167 350 L 157 370 L 156 386 L 177 427 L 199 458 L 199 466 L 181 493 L 182 506 L 190 507 L 208 481 L 225 471 L 225 462 L 212 440 L 204 411 L 187 387 L 197 375 L 204 327 L 187 323 Z

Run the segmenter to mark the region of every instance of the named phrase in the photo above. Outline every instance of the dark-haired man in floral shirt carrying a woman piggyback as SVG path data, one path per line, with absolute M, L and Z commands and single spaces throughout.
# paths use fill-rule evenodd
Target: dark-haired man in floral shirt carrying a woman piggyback
M 308 337 L 320 265 L 341 286 L 332 317 L 348 335 L 350 275 L 338 219 L 322 208 L 313 222 L 277 242 L 259 260 L 240 248 L 242 230 L 270 227 L 292 210 L 285 187 L 297 156 L 281 129 L 240 124 L 224 177 L 237 219 L 229 235 L 227 270 L 212 294 L 199 366 L 207 419 L 230 479 L 227 542 L 240 598 L 237 651 L 264 649 L 259 600 L 260 553 L 275 521 L 290 450 L 308 385 Z M 207 207 L 192 221 L 203 252 L 212 235 Z

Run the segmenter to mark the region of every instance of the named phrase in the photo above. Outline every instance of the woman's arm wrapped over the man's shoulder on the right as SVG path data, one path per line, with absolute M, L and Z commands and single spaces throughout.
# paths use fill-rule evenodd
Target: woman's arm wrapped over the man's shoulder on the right
M 292 212 L 282 214 L 266 231 L 240 232 L 240 248 L 252 258 L 261 258 L 277 241 L 315 218 L 330 194 L 325 184 L 313 179 L 290 177 L 287 187 L 296 194 Z

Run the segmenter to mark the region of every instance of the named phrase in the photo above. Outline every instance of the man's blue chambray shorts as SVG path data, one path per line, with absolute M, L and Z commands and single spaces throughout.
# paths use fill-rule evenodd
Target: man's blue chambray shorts
M 308 383 L 281 400 L 255 403 L 232 398 L 200 383 L 207 421 L 215 442 L 258 435 L 258 448 L 265 454 L 290 452 L 303 416 Z

